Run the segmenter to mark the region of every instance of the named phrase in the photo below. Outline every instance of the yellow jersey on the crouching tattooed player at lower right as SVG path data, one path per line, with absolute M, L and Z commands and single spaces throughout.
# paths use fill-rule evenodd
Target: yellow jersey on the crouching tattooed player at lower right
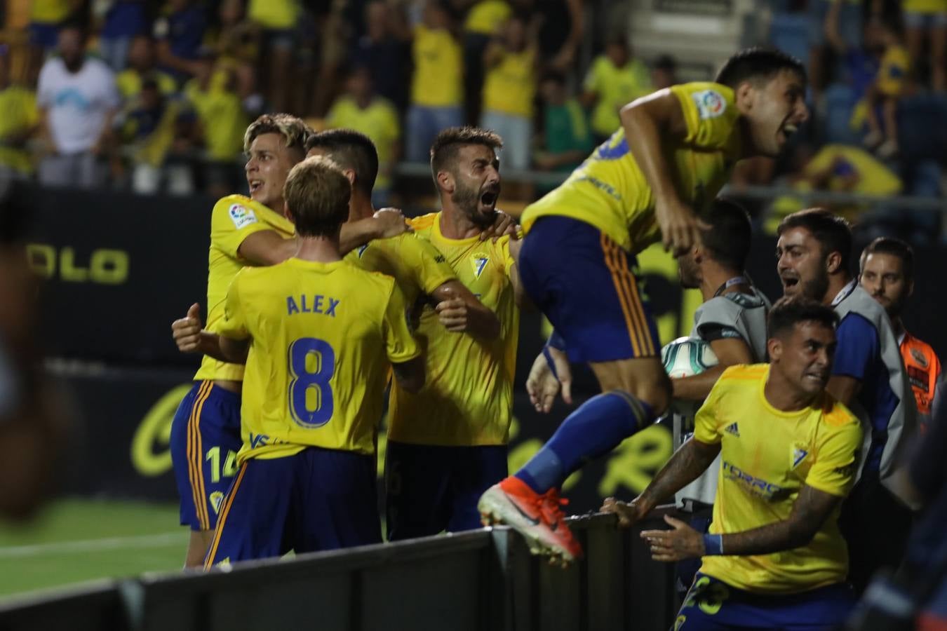
M 862 428 L 830 394 L 781 412 L 763 394 L 769 364 L 727 368 L 694 419 L 694 438 L 722 444 L 710 533 L 739 533 L 789 517 L 803 484 L 844 497 L 855 481 Z M 726 549 L 724 547 L 724 552 Z M 806 546 L 755 556 L 705 556 L 701 571 L 755 592 L 790 593 L 845 580 L 849 551 L 838 510 Z

